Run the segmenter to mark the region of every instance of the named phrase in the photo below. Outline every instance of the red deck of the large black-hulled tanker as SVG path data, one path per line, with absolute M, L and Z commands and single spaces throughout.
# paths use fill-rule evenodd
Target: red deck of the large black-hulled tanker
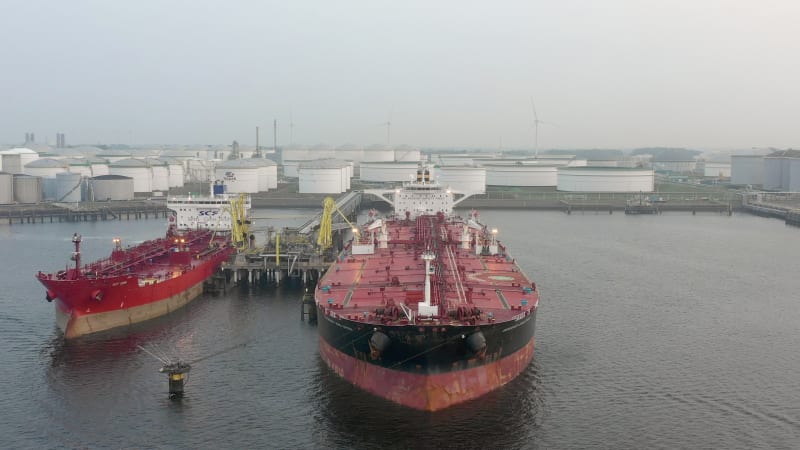
M 476 242 L 489 238 L 485 228 L 470 228 L 469 248 L 463 248 L 464 222 L 431 219 L 422 228 L 419 221 L 388 221 L 386 248 L 375 245 L 373 254 L 353 254 L 350 247 L 321 280 L 317 301 L 368 321 L 376 309 L 398 304 L 416 313 L 425 292 L 422 254 L 430 250 L 436 258 L 432 303 L 444 305 L 440 311 L 448 312 L 448 321 L 471 315 L 474 308 L 491 312 L 488 317 L 480 314 L 479 321 L 511 320 L 535 307 L 535 285 L 501 244 L 494 255 L 476 251 Z

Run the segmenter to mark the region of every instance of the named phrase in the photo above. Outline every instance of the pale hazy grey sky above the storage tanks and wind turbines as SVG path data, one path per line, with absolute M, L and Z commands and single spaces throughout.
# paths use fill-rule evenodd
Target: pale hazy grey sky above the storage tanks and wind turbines
M 0 0 L 0 142 L 800 147 L 800 1 Z

